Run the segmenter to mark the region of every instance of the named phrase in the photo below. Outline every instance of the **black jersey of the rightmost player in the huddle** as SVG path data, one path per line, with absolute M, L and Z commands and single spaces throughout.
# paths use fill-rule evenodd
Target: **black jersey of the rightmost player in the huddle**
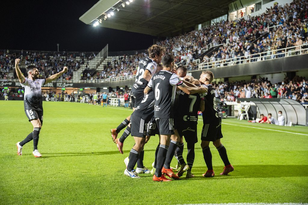
M 221 122 L 221 115 L 217 110 L 215 89 L 212 85 L 202 85 L 208 88 L 208 92 L 204 94 L 205 109 L 202 112 L 203 123 L 217 124 Z

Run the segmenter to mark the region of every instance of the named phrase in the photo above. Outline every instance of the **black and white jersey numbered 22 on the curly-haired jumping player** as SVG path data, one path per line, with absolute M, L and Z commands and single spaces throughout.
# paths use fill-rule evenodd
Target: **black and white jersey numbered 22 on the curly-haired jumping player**
M 153 59 L 149 57 L 141 58 L 141 60 L 139 61 L 139 66 L 138 66 L 138 70 L 136 73 L 136 80 L 132 86 L 132 92 L 136 92 L 136 91 L 138 92 L 139 90 L 140 91 L 142 90 L 143 92 L 144 88 L 146 88 L 146 86 L 148 85 L 148 81 L 143 78 L 144 71 L 145 70 L 150 71 L 151 76 L 153 76 L 156 69 L 157 69 L 157 64 Z

